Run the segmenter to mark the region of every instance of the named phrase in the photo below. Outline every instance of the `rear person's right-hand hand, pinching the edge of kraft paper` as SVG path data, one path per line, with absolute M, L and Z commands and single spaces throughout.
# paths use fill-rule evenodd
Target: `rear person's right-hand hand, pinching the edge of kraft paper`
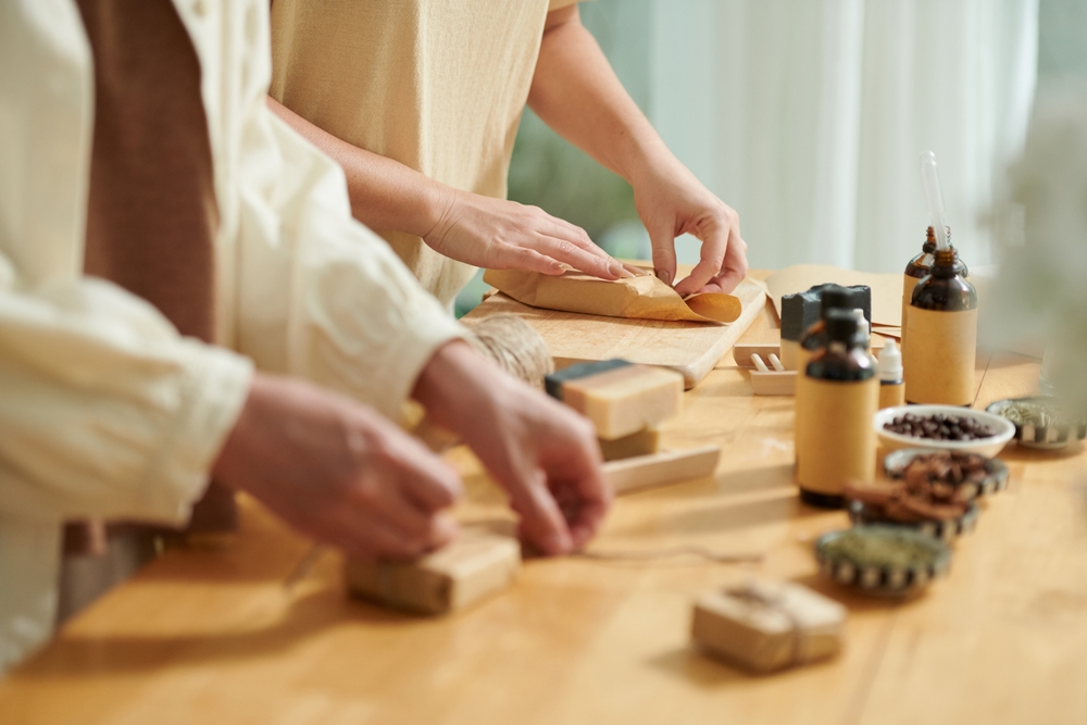
M 675 285 L 675 290 L 686 297 L 736 289 L 748 271 L 739 215 L 674 157 L 647 168 L 646 174 L 634 180 L 634 203 L 649 230 L 657 276 L 664 284 L 673 284 L 675 238 L 690 234 L 702 241 L 700 260 L 690 276 Z

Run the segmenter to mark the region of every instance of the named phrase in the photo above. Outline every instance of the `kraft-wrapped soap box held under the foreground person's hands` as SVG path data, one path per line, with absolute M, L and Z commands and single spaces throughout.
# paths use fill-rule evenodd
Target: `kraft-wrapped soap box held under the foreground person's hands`
M 348 591 L 384 607 L 416 614 L 445 614 L 513 582 L 521 566 L 514 539 L 465 534 L 415 562 L 348 560 Z

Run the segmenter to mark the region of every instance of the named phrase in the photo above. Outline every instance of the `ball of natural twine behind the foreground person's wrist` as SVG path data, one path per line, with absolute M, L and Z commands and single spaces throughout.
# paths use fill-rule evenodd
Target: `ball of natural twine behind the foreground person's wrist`
M 542 388 L 544 378 L 554 372 L 547 342 L 521 317 L 498 314 L 468 325 L 468 343 L 510 375 Z

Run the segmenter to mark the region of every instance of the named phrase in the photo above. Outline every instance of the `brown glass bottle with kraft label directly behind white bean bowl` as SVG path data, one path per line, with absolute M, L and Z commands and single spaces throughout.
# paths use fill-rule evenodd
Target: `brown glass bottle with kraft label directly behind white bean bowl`
M 903 335 L 905 400 L 970 405 L 974 401 L 977 291 L 953 247 L 936 250 L 929 274 L 910 299 Z

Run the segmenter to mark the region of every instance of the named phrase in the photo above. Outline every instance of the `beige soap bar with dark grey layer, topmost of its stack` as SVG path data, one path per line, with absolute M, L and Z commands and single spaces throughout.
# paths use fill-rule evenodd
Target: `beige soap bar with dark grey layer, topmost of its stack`
M 592 421 L 597 435 L 614 440 L 679 414 L 683 375 L 623 360 L 573 365 L 547 377 L 548 393 Z

